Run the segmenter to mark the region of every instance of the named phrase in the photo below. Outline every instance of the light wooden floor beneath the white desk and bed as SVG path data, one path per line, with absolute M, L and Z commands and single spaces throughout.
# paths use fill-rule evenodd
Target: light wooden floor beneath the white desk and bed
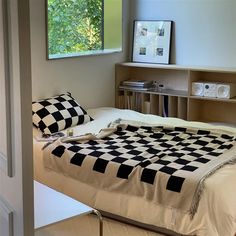
M 164 236 L 132 225 L 103 218 L 104 236 Z M 35 236 L 98 236 L 98 220 L 87 215 L 60 222 L 36 231 Z

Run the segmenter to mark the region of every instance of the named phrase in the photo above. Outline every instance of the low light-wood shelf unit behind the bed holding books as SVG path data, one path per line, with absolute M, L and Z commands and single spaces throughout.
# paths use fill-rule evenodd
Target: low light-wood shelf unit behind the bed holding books
M 165 89 L 121 89 L 124 80 L 156 81 Z M 236 124 L 236 98 L 192 96 L 192 82 L 196 81 L 236 83 L 236 68 L 119 63 L 116 64 L 116 107 L 192 121 Z

